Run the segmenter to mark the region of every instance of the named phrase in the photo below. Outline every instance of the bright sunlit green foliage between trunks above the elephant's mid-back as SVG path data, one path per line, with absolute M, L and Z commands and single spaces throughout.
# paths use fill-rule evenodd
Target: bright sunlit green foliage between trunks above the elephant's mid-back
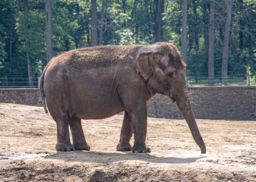
M 125 1 L 124 1 L 125 2 Z M 123 9 L 122 9 L 123 8 Z M 126 1 L 106 5 L 104 45 L 153 43 L 153 14 L 147 1 Z

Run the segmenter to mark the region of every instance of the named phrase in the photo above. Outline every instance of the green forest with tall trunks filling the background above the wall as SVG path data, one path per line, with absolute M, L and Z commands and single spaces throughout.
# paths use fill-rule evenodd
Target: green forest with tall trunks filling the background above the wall
M 188 64 L 188 83 L 244 83 L 249 76 L 255 84 L 256 0 L 1 0 L 0 87 L 37 86 L 33 78 L 47 64 L 46 5 L 53 56 L 172 42 Z

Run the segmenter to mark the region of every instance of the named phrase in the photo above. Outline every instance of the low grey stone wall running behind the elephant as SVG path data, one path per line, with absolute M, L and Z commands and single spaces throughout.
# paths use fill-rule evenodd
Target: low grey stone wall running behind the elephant
M 256 121 L 256 86 L 189 87 L 195 118 Z M 42 106 L 39 89 L 0 89 L 0 102 Z M 148 115 L 183 118 L 177 105 L 157 94 L 147 102 Z

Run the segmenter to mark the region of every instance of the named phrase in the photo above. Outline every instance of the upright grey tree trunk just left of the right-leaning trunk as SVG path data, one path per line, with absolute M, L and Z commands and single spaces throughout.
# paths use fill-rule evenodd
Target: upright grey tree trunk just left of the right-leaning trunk
M 215 2 L 210 0 L 209 50 L 208 50 L 208 85 L 214 85 L 214 11 Z

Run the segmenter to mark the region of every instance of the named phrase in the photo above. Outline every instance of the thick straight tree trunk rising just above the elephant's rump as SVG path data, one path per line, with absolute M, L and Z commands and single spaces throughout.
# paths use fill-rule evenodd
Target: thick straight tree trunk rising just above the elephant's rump
M 52 56 L 52 0 L 46 0 L 46 61 L 49 62 Z

